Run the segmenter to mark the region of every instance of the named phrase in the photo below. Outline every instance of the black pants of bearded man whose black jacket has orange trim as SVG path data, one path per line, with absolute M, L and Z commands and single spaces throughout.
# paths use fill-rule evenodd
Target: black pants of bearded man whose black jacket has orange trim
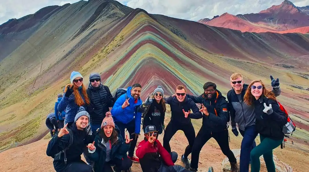
M 229 146 L 229 135 L 227 129 L 221 132 L 211 132 L 206 129 L 207 128 L 202 126 L 195 138 L 191 154 L 191 168 L 197 169 L 201 149 L 211 137 L 217 141 L 222 153 L 229 158 L 229 162 L 236 162 L 234 153 L 231 151 Z

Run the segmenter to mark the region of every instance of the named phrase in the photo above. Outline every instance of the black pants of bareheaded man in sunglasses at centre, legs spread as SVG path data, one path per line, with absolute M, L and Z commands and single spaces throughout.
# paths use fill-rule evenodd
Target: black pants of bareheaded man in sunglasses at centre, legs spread
M 189 145 L 186 147 L 184 151 L 184 157 L 188 157 L 188 155 L 192 151 L 192 146 L 195 139 L 195 130 L 193 128 L 192 123 L 187 125 L 174 124 L 170 121 L 165 129 L 165 133 L 163 136 L 163 147 L 167 150 L 167 152 L 171 152 L 170 140 L 175 135 L 175 133 L 181 130 L 184 132 L 184 135 L 187 137 Z

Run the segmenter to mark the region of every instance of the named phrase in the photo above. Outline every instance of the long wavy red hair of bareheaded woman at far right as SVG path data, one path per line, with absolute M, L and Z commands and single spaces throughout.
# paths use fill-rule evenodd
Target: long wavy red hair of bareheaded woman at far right
M 253 102 L 256 100 L 255 97 L 251 94 L 251 86 L 253 84 L 255 84 L 256 82 L 260 82 L 261 85 L 263 86 L 263 90 L 262 90 L 262 95 L 261 96 L 265 96 L 268 99 L 273 99 L 276 101 L 276 96 L 272 91 L 269 91 L 265 88 L 264 83 L 261 80 L 254 80 L 250 83 L 250 85 L 248 86 L 248 89 L 246 90 L 245 95 L 243 96 L 243 101 L 245 103 L 247 103 L 248 105 L 252 105 Z

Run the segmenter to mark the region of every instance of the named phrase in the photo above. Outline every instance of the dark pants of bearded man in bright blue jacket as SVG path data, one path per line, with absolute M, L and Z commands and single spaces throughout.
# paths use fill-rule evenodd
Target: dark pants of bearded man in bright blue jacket
M 132 133 L 134 133 L 135 131 L 135 120 L 133 119 L 132 121 L 130 121 L 128 124 L 123 124 L 121 122 L 115 122 L 115 124 L 118 126 L 119 130 L 120 130 L 120 134 L 122 136 L 123 139 L 125 139 L 125 128 L 128 130 L 129 132 L 129 137 L 130 139 L 133 139 L 133 141 L 131 141 L 131 145 L 128 151 L 128 156 L 129 157 L 133 157 L 134 155 L 134 149 L 138 140 L 138 137 L 135 140 L 135 135 L 132 135 Z

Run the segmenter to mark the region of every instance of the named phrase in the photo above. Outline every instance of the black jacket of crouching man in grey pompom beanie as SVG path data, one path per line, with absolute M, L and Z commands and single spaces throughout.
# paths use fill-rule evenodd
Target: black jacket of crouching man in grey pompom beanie
M 81 162 L 81 154 L 86 149 L 86 145 L 92 143 L 95 135 L 88 135 L 86 129 L 78 130 L 76 124 L 73 123 L 70 127 L 72 130 L 74 139 L 73 143 L 68 150 L 66 150 L 66 158 L 67 165 L 71 162 Z M 49 141 L 46 154 L 47 156 L 54 157 L 55 154 L 59 153 L 59 151 L 65 149 L 70 141 L 70 134 L 66 134 L 60 138 L 58 138 L 58 132 L 55 136 Z M 66 167 L 64 163 L 64 154 L 61 154 L 60 160 L 53 161 L 54 168 L 57 172 L 64 172 Z

